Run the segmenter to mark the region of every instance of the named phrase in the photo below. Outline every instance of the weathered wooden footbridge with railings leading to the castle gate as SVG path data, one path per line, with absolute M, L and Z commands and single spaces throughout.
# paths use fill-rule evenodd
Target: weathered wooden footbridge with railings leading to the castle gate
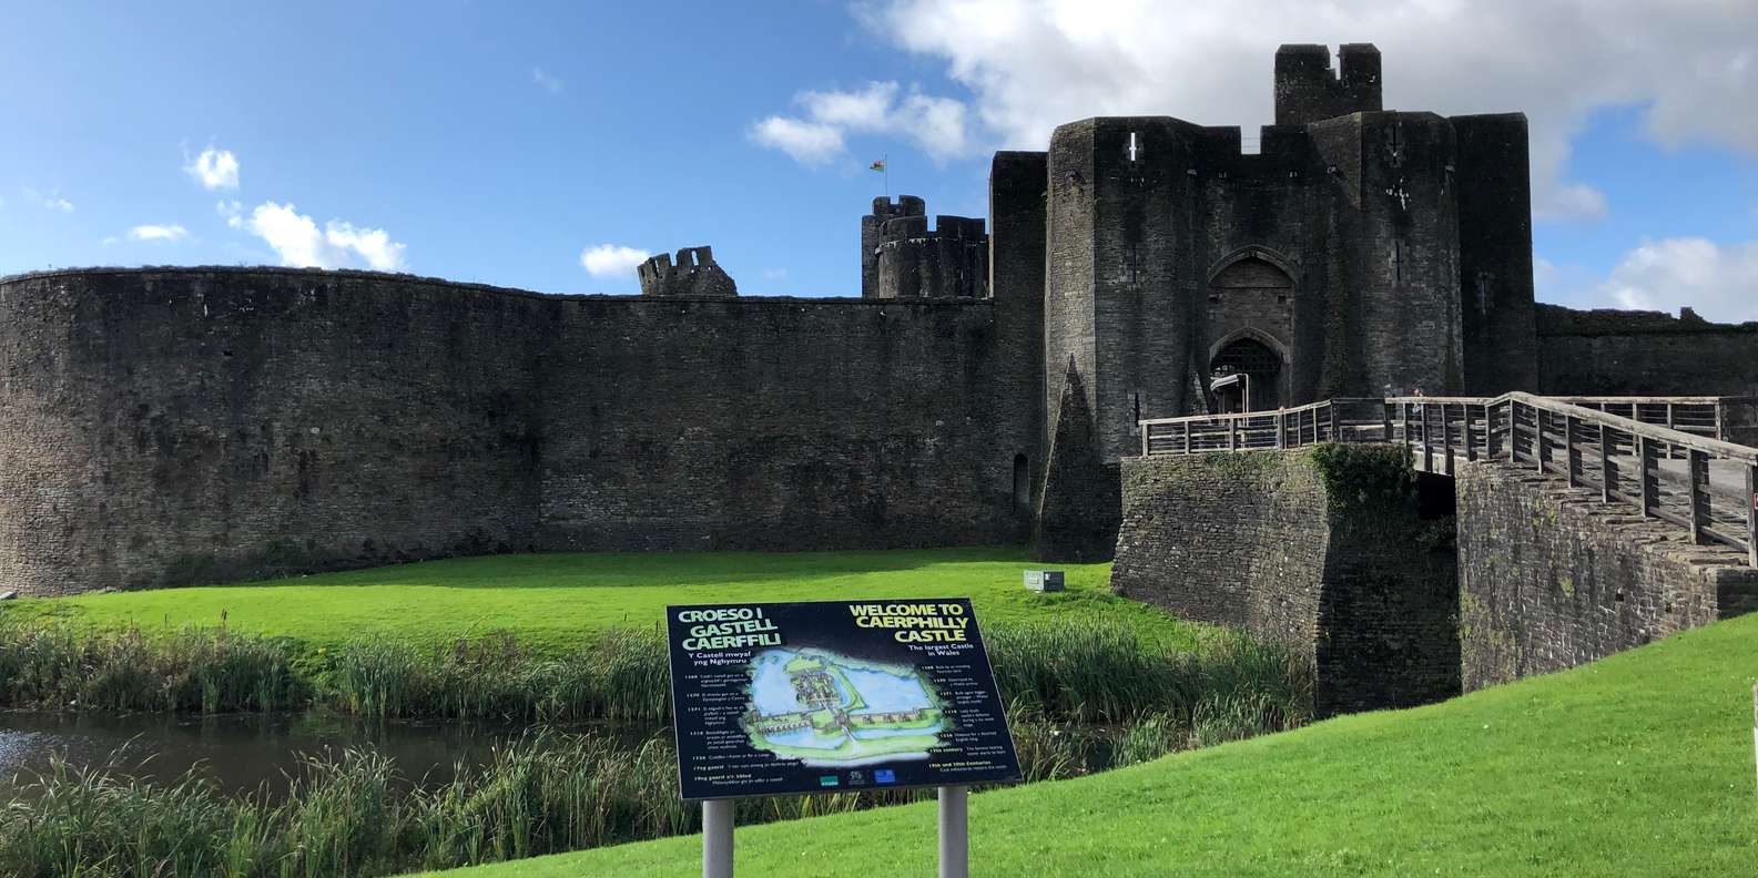
M 1758 567 L 1758 397 L 1385 397 L 1139 421 L 1143 455 L 1403 444 L 1420 472 L 1496 462 L 1563 476 Z

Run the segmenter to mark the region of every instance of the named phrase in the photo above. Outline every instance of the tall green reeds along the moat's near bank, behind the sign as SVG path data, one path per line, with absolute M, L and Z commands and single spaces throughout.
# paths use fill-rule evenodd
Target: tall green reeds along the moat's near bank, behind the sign
M 1016 715 L 1014 730 L 1028 781 L 1076 766 L 1134 764 L 1201 741 L 1166 715 L 1144 716 L 1099 746 L 1037 716 Z M 675 759 L 665 734 L 629 745 L 534 732 L 498 748 L 480 769 L 461 767 L 445 785 L 420 787 L 392 760 L 346 750 L 306 757 L 278 799 L 220 795 L 199 773 L 163 785 L 139 781 L 127 753 L 84 769 L 58 762 L 0 813 L 0 874 L 381 876 L 696 832 L 700 810 L 677 797 Z M 932 794 L 744 799 L 738 824 L 853 813 Z

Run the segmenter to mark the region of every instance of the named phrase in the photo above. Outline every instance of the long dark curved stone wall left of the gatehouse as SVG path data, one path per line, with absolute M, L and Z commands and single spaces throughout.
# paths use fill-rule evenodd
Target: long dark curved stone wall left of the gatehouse
M 1021 381 L 1000 311 L 280 269 L 5 279 L 0 588 L 1018 541 L 1037 435 L 1000 399 Z

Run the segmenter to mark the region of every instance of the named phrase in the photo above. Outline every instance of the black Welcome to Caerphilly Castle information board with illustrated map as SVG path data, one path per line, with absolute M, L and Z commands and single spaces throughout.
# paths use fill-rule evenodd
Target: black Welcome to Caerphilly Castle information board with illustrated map
M 684 799 L 1006 783 L 970 601 L 668 606 Z

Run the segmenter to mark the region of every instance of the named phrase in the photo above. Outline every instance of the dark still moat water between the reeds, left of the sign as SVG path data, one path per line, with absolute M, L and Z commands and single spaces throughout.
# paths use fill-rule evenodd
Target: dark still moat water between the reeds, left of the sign
M 659 727 L 649 723 L 564 725 L 596 730 L 636 746 Z M 60 755 L 69 767 L 114 766 L 123 776 L 172 783 L 197 771 L 227 794 L 265 788 L 287 792 L 306 755 L 371 746 L 390 757 L 410 785 L 448 783 L 459 766 L 480 767 L 494 746 L 517 739 L 529 725 L 459 720 L 362 722 L 331 713 L 278 715 L 109 715 L 0 711 L 0 801 L 28 794 Z

